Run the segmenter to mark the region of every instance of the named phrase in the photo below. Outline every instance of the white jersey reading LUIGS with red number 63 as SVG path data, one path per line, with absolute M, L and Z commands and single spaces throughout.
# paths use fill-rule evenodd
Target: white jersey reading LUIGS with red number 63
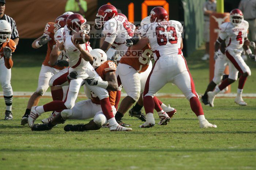
M 182 30 L 180 22 L 169 20 L 146 24 L 139 31 L 142 37 L 148 37 L 156 60 L 161 56 L 182 55 L 180 49 Z

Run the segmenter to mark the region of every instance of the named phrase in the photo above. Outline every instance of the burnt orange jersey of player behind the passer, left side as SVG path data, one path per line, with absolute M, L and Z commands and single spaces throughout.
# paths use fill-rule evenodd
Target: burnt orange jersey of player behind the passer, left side
M 49 37 L 51 38 L 51 40 L 48 42 L 48 45 L 47 45 L 47 53 L 46 53 L 46 56 L 45 56 L 45 60 L 43 62 L 43 65 L 46 65 L 46 66 L 49 66 L 49 67 L 54 67 L 56 69 L 59 69 L 59 70 L 62 70 L 64 69 L 65 67 L 58 67 L 58 66 L 51 66 L 49 65 L 49 61 L 50 61 L 50 54 L 52 52 L 52 48 L 53 46 L 56 44 L 55 40 L 54 40 L 54 24 L 53 22 L 48 22 L 45 26 L 45 29 L 44 29 L 44 34 L 45 35 L 49 35 Z

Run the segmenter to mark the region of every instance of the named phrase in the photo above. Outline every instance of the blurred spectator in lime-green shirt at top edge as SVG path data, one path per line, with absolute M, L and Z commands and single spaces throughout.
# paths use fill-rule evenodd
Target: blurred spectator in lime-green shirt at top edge
M 85 17 L 87 11 L 87 2 L 85 0 L 68 0 L 65 6 L 65 12 L 71 11 L 74 13 L 80 13 Z

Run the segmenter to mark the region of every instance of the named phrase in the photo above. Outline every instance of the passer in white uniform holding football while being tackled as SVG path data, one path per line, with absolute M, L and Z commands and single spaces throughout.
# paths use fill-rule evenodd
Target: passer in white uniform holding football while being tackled
M 64 101 L 52 101 L 43 106 L 32 107 L 28 119 L 30 127 L 33 127 L 34 121 L 44 112 L 73 108 L 80 86 L 84 83 L 84 79 L 90 78 L 90 82 L 88 83 L 90 86 L 88 88 L 99 97 L 102 111 L 107 117 L 110 127 L 113 126 L 112 130 L 127 130 L 127 128 L 118 125 L 114 119 L 112 107 L 109 102 L 109 94 L 106 90 L 108 82 L 103 81 L 89 63 L 93 61 L 93 56 L 89 53 L 92 50 L 89 43 L 86 42 L 80 45 L 78 40 L 72 38 L 77 32 L 88 34 L 89 31 L 90 25 L 86 24 L 86 19 L 82 15 L 74 13 L 67 18 L 63 32 L 64 48 L 69 59 L 68 78 L 70 82 L 67 97 Z

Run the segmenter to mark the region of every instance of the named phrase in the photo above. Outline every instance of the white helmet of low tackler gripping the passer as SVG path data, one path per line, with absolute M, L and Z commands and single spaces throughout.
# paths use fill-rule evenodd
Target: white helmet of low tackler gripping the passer
M 101 49 L 93 49 L 90 54 L 93 56 L 93 67 L 98 67 L 108 60 L 107 54 Z

